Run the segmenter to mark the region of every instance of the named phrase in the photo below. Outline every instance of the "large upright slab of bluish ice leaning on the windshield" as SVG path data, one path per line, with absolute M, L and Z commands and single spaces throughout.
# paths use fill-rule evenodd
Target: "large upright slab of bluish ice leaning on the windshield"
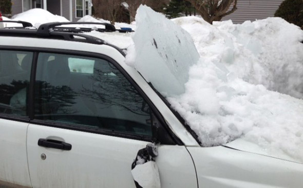
M 143 5 L 137 10 L 136 24 L 135 68 L 164 95 L 184 93 L 188 70 L 200 58 L 191 35 Z

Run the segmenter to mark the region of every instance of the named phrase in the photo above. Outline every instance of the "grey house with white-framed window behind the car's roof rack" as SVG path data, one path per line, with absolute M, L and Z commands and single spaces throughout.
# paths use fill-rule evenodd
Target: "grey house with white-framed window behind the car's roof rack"
M 78 21 L 85 15 L 91 15 L 91 0 L 11 0 L 12 15 L 33 8 L 42 8 L 52 14 L 60 15 L 69 21 Z

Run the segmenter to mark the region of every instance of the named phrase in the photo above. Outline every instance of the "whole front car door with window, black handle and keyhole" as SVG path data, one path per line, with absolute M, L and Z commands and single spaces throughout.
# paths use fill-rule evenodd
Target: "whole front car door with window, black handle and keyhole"
M 162 187 L 197 187 L 185 146 L 116 62 L 43 52 L 35 75 L 27 134 L 33 187 L 135 187 L 131 163 L 155 139 Z

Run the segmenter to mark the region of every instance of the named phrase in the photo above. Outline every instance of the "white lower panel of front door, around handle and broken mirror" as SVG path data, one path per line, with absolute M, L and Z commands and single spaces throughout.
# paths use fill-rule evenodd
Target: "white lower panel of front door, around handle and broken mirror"
M 33 187 L 135 187 L 131 163 L 148 142 L 30 124 L 28 164 Z M 37 145 L 40 138 L 72 145 L 70 151 Z M 161 187 L 197 187 L 185 146 L 159 147 Z M 43 160 L 41 155 L 45 154 Z M 178 157 L 175 157 L 178 156 Z M 185 173 L 184 173 L 185 172 Z

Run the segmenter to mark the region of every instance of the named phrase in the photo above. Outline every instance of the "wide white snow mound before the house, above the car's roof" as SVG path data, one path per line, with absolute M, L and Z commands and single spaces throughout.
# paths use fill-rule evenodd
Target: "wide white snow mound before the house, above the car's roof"
M 44 9 L 30 9 L 26 12 L 16 14 L 12 17 L 14 21 L 25 21 L 31 23 L 34 27 L 48 22 L 69 22 L 65 17 L 53 15 Z

